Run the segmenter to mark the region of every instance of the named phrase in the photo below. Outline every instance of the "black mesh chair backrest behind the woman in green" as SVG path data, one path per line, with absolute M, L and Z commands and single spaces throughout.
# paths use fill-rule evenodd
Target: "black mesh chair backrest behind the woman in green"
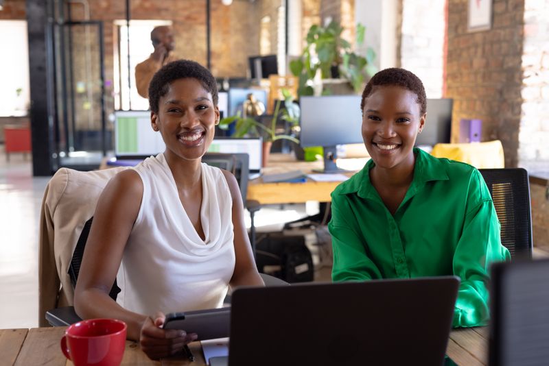
M 528 173 L 522 168 L 479 169 L 501 224 L 502 244 L 511 258 L 532 257 L 532 214 Z

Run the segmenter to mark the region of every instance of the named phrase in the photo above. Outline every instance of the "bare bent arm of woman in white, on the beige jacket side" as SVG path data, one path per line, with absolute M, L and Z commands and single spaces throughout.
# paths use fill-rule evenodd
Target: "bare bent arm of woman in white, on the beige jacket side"
M 80 317 L 125 321 L 130 339 L 139 339 L 147 317 L 122 308 L 108 293 L 115 282 L 142 197 L 143 183 L 135 171 L 122 171 L 108 182 L 95 208 L 74 296 L 75 310 Z

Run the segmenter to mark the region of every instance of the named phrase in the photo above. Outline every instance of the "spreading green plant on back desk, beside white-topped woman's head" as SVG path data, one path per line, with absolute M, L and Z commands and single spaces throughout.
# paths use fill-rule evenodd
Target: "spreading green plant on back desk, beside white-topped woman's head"
M 299 106 L 294 103 L 294 99 L 288 90 L 282 89 L 281 92 L 284 100 L 277 100 L 277 103 L 275 103 L 270 125 L 264 125 L 264 123 L 261 123 L 253 117 L 242 117 L 240 114 L 221 119 L 219 123 L 219 127 L 222 130 L 228 130 L 229 124 L 235 122 L 236 126 L 235 133 L 233 134 L 234 137 L 261 136 L 263 138 L 264 166 L 268 161 L 270 147 L 274 141 L 285 139 L 299 144 L 299 139 L 290 134 L 277 134 L 277 121 L 279 120 L 279 117 L 290 123 L 290 129 L 292 131 L 297 132 L 296 130 L 299 129 Z M 284 103 L 285 107 L 282 111 L 280 109 L 281 103 Z M 282 115 L 280 116 L 281 113 Z

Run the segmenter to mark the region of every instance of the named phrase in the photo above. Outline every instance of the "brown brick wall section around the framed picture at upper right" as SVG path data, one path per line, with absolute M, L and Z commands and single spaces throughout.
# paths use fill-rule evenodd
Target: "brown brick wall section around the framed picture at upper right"
M 467 0 L 448 0 L 447 97 L 452 141 L 463 118 L 482 119 L 482 141 L 499 139 L 506 167 L 517 166 L 524 0 L 493 0 L 489 30 L 467 32 Z

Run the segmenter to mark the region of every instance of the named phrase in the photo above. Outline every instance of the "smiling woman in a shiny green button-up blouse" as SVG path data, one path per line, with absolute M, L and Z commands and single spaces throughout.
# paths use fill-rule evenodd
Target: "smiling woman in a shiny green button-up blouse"
M 371 160 L 331 194 L 332 279 L 454 274 L 461 284 L 453 326 L 487 324 L 487 271 L 510 255 L 482 176 L 414 148 L 427 111 L 423 84 L 410 71 L 375 74 L 360 109 Z

